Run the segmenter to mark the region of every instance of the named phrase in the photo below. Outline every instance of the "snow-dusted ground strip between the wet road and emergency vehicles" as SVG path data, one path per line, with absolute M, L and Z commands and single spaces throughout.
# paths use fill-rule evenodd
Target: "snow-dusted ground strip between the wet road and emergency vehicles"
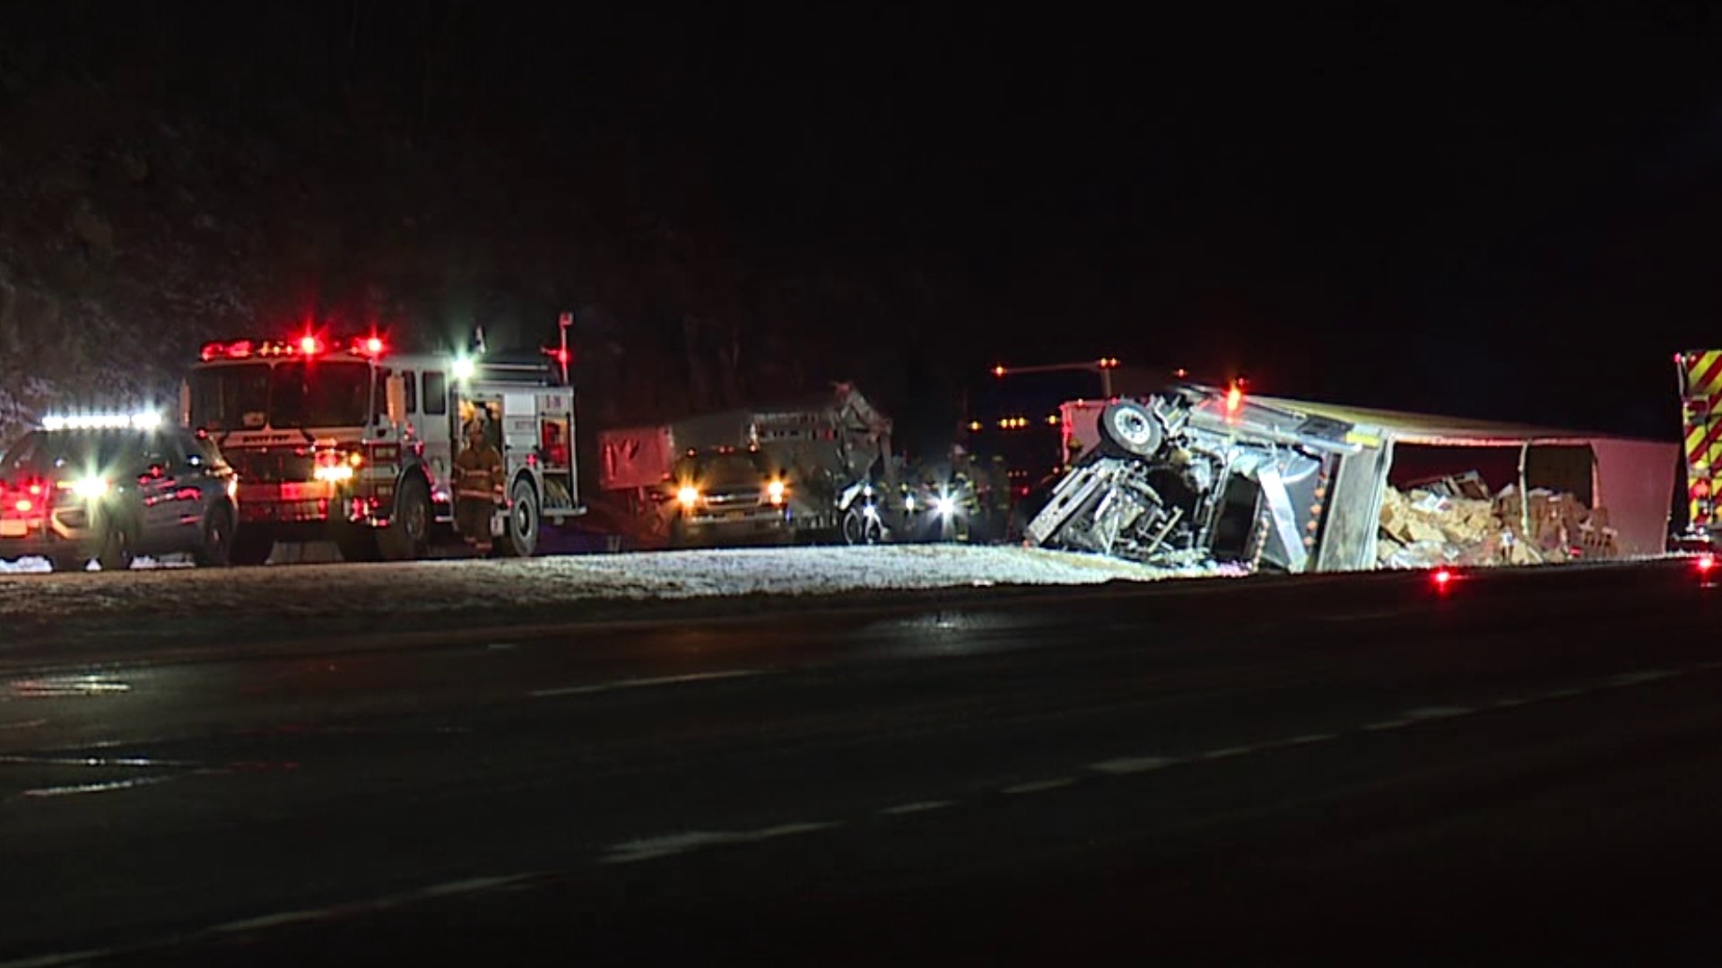
M 1209 572 L 1168 572 L 1099 555 L 1006 546 L 737 548 L 449 560 L 387 565 L 146 568 L 126 575 L 0 577 L 0 629 L 29 622 L 71 634 L 114 618 L 220 615 L 365 618 L 429 613 L 579 617 L 580 603 L 806 596 L 890 589 L 1088 586 Z M 563 608 L 573 606 L 573 608 Z M 3 637 L 3 636 L 0 636 Z

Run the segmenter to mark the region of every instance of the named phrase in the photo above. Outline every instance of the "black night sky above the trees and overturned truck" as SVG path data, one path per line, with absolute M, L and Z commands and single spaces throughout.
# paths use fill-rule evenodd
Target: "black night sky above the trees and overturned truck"
M 195 41 L 160 43 L 207 57 L 169 88 L 255 98 L 325 76 L 313 41 L 355 7 L 177 10 L 153 29 Z M 384 81 L 458 22 L 444 134 L 523 193 L 622 136 L 713 238 L 956 281 L 904 350 L 952 370 L 1116 355 L 1665 436 L 1669 355 L 1722 343 L 1710 19 L 356 10 Z M 136 33 L 90 43 L 152 62 Z

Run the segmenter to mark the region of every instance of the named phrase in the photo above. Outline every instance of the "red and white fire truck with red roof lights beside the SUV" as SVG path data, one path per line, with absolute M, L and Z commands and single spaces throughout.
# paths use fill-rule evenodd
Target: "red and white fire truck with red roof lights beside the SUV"
M 181 410 L 238 470 L 234 563 L 263 563 L 277 541 L 401 562 L 460 537 L 451 472 L 474 420 L 506 468 L 498 555 L 530 556 L 542 522 L 584 512 L 573 388 L 554 355 L 396 351 L 377 334 L 220 339 L 203 344 Z

